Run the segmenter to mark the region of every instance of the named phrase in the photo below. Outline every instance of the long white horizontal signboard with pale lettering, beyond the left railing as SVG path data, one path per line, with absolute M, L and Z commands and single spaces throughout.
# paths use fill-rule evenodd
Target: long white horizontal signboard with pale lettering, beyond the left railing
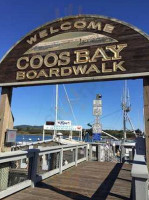
M 58 131 L 82 131 L 82 126 L 52 126 L 44 125 L 44 130 L 58 130 Z

